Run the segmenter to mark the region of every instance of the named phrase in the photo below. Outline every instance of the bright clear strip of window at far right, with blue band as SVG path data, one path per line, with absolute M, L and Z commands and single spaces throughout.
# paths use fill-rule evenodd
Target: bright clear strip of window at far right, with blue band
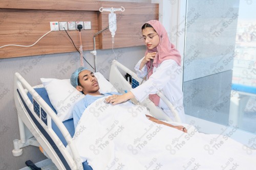
M 256 4 L 240 1 L 234 56 L 230 118 L 256 133 Z M 237 105 L 238 104 L 238 105 Z

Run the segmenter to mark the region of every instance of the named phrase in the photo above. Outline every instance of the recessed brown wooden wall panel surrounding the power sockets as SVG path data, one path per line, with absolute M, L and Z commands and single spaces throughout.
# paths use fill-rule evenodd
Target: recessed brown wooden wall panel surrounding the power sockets
M 0 18 L 0 46 L 6 44 L 31 45 L 50 31 L 50 21 L 91 21 L 91 30 L 81 30 L 83 50 L 93 50 L 93 35 L 98 32 L 97 11 L 20 10 L 2 9 Z M 79 31 L 67 31 L 77 48 Z M 96 47 L 98 47 L 96 37 Z M 7 46 L 0 48 L 0 58 L 34 56 L 76 51 L 65 31 L 52 31 L 32 47 Z

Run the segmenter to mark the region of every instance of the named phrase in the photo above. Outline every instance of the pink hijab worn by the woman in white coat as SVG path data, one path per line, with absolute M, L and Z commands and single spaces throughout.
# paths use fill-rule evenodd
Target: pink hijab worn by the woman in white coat
M 160 41 L 159 44 L 152 50 L 145 52 L 145 56 L 148 52 L 157 52 L 155 59 L 153 61 L 153 66 L 158 67 L 164 60 L 172 59 L 181 65 L 181 56 L 178 50 L 175 48 L 175 45 L 170 43 L 166 30 L 163 25 L 158 20 L 150 20 L 146 23 L 149 23 L 157 32 Z M 146 63 L 147 70 L 150 69 L 151 61 Z M 153 74 L 153 68 L 148 72 L 148 78 Z M 154 102 L 156 106 L 159 105 L 160 98 L 157 94 L 150 94 L 150 100 Z

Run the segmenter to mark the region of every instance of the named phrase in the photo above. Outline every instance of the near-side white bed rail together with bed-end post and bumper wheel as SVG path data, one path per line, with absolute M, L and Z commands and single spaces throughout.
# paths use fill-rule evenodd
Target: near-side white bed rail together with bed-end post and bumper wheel
M 83 169 L 72 137 L 56 113 L 17 72 L 15 73 L 14 81 L 14 100 L 18 114 L 20 140 L 18 140 L 18 143 L 14 142 L 13 153 L 19 152 L 21 155 L 22 150 L 20 148 L 26 145 L 40 145 L 46 152 L 46 156 L 52 160 L 58 169 Z M 29 100 L 27 92 L 32 94 L 34 104 Z M 38 111 L 39 116 L 37 115 Z M 46 116 L 44 116 L 45 113 L 47 114 Z M 46 119 L 47 125 L 45 124 Z M 67 151 L 66 147 L 52 130 L 51 120 L 54 121 L 69 143 L 73 155 Z M 28 136 L 31 136 L 28 130 L 34 137 L 28 138 Z

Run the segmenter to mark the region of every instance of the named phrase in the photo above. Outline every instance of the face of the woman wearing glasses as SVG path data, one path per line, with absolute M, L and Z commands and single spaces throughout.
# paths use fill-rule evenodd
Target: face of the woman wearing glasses
M 145 45 L 148 50 L 152 50 L 159 44 L 159 36 L 151 27 L 143 29 L 142 36 L 142 39 L 145 41 Z

